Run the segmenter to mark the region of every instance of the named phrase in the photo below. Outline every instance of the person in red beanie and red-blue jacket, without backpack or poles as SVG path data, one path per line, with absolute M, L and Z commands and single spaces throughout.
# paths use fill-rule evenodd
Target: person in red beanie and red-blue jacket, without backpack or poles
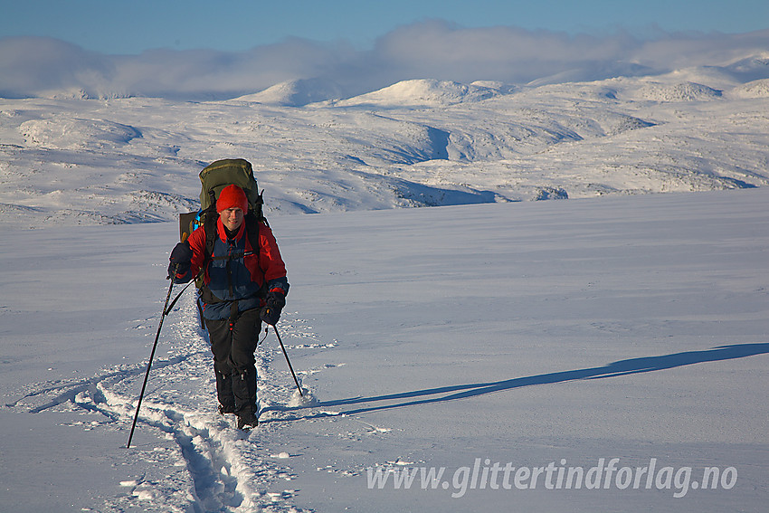
M 214 251 L 205 262 L 204 226 L 171 252 L 169 274 L 186 283 L 203 270 L 198 297 L 214 354 L 219 413 L 235 413 L 239 429 L 256 427 L 256 351 L 261 322 L 275 325 L 286 304 L 286 266 L 271 229 L 259 223 L 259 251 L 253 251 L 244 214 L 242 188 L 227 185 L 216 201 Z

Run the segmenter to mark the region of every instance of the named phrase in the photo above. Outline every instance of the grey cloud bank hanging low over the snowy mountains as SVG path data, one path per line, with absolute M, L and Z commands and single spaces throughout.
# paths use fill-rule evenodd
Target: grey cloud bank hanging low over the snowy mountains
M 150 96 L 222 100 L 283 81 L 334 81 L 347 96 L 409 79 L 601 80 L 769 58 L 769 30 L 743 34 L 569 35 L 517 27 L 409 24 L 359 50 L 346 42 L 291 38 L 246 52 L 158 49 L 138 55 L 89 52 L 41 37 L 0 39 L 0 96 Z

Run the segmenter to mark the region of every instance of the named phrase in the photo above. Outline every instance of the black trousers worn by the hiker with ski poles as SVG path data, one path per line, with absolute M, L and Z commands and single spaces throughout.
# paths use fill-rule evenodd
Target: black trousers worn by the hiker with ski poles
M 259 309 L 242 312 L 237 318 L 205 319 L 214 353 L 216 395 L 224 412 L 241 416 L 256 414 L 256 351 L 261 319 Z

